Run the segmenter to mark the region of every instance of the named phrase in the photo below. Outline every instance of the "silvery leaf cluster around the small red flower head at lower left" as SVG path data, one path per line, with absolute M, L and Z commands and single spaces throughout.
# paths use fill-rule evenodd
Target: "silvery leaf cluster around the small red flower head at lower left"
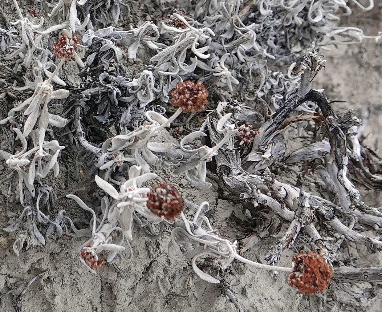
M 66 197 L 73 199 L 82 209 L 90 212 L 92 214 L 91 219 L 91 238 L 89 238 L 86 242 L 84 242 L 79 249 L 91 252 L 91 255 L 95 261 L 97 261 L 98 254 L 102 251 L 108 252 L 107 262 L 112 263 L 115 259 L 115 256 L 118 252 L 125 251 L 125 247 L 122 246 L 124 240 L 124 232 L 119 226 L 115 226 L 116 222 L 111 218 L 109 220 L 108 214 L 110 209 L 114 209 L 110 207 L 110 203 L 107 199 L 107 196 L 102 198 L 101 206 L 103 218 L 102 220 L 97 219 L 95 212 L 93 209 L 88 207 L 83 200 L 81 200 L 78 196 L 73 194 L 68 194 Z M 97 225 L 99 223 L 99 225 Z M 118 236 L 115 235 L 118 233 Z M 113 242 L 114 241 L 114 242 Z M 90 247 L 89 247 L 90 245 Z M 79 257 L 81 262 L 94 274 L 96 272 L 92 270 L 84 261 L 82 257 Z

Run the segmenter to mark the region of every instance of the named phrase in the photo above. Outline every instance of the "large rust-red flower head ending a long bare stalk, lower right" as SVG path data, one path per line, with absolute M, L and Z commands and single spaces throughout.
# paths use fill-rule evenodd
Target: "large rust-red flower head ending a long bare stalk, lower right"
M 299 293 L 311 295 L 325 291 L 333 277 L 333 269 L 317 252 L 301 252 L 292 257 L 295 263 L 288 285 L 296 286 Z

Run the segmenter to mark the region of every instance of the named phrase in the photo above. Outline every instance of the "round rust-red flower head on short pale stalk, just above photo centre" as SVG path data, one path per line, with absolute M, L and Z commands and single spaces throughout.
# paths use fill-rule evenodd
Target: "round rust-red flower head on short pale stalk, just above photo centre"
M 180 107 L 183 112 L 187 113 L 205 110 L 204 105 L 208 103 L 208 91 L 201 81 L 196 83 L 190 80 L 179 82 L 171 95 L 172 105 Z

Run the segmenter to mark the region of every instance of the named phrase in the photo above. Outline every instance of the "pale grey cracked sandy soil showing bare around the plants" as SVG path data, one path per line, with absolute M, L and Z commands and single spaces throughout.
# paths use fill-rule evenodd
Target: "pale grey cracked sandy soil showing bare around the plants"
M 380 28 L 380 9 L 369 13 L 354 10 L 354 15 L 344 21 L 345 24 L 359 26 L 366 34 L 375 34 Z M 373 40 L 362 45 L 340 47 L 325 52 L 327 65 L 316 79 L 317 88 L 325 88 L 329 99 L 345 100 L 336 103 L 334 110 L 344 111 L 353 108 L 358 115 L 369 108 L 367 121 L 367 142 L 382 153 L 382 110 L 380 101 L 382 89 L 380 80 L 382 46 Z M 193 202 L 200 203 L 206 199 L 211 205 L 210 220 L 214 228 L 231 240 L 241 239 L 245 257 L 264 262 L 264 255 L 279 238 L 282 230 L 274 236 L 260 239 L 259 233 L 248 233 L 241 229 L 231 216 L 246 218 L 240 205 L 233 205 L 217 198 L 217 185 L 208 191 L 191 188 L 186 179 L 172 176 L 165 169 L 158 169 L 159 175 L 181 190 L 182 195 Z M 0 175 L 5 172 L 0 165 Z M 52 214 L 61 209 L 71 217 L 85 217 L 83 211 L 65 199 L 65 194 L 73 193 L 88 198 L 94 188 L 87 181 L 66 185 L 65 174 L 50 178 L 49 184 L 56 188 L 57 201 Z M 13 185 L 15 187 L 15 185 Z M 0 193 L 6 194 L 8 184 L 0 186 Z M 380 205 L 380 192 L 363 190 L 367 204 Z M 2 201 L 2 202 L 1 202 Z M 11 223 L 21 212 L 18 204 L 5 205 L 5 197 L 0 197 L 0 228 Z M 187 212 L 192 214 L 193 212 Z M 13 236 L 0 232 L 0 311 L 16 311 L 15 298 L 28 282 L 38 273 L 47 270 L 36 280 L 21 297 L 22 311 L 28 312 L 129 312 L 129 311 L 183 311 L 199 312 L 236 311 L 234 304 L 222 295 L 219 286 L 212 285 L 197 278 L 190 262 L 185 259 L 173 260 L 168 255 L 169 229 L 164 229 L 159 239 L 148 238 L 135 230 L 132 242 L 133 257 L 130 260 L 117 260 L 115 266 L 106 266 L 99 275 L 87 272 L 78 260 L 77 246 L 83 241 L 68 236 L 47 244 L 45 248 L 37 242 L 31 242 L 28 250 L 20 252 L 17 257 L 13 250 Z M 306 242 L 297 240 L 296 248 L 307 246 Z M 345 244 L 343 253 L 348 252 L 354 265 L 382 265 L 380 254 L 370 255 L 366 249 L 354 244 Z M 295 250 L 283 252 L 280 265 L 289 265 L 290 257 Z M 205 262 L 215 274 L 213 262 Z M 237 300 L 245 311 L 279 312 L 279 311 L 379 311 L 382 306 L 381 285 L 350 285 L 333 282 L 326 293 L 306 298 L 286 285 L 286 276 L 272 276 L 269 272 L 254 271 L 240 263 L 233 263 L 228 270 L 220 274 L 225 277 L 233 289 Z M 13 289 L 11 294 L 1 294 Z M 354 299 L 350 294 L 359 294 Z M 20 304 L 20 303 L 19 303 Z

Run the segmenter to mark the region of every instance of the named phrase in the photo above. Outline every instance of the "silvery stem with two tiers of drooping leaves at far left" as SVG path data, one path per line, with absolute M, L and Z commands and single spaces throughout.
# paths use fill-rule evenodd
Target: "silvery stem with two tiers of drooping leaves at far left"
M 34 197 L 36 190 L 33 184 L 36 178 L 45 178 L 51 169 L 53 169 L 55 176 L 59 173 L 57 158 L 60 150 L 64 147 L 60 146 L 56 140 L 46 142 L 45 133 L 49 125 L 59 128 L 64 127 L 66 119 L 50 114 L 48 104 L 51 99 L 64 99 L 69 95 L 69 91 L 64 89 L 53 91 L 50 79 L 42 81 L 40 76 L 37 76 L 36 81 L 31 83 L 30 87 L 36 88 L 32 96 L 17 107 L 12 108 L 8 113 L 8 117 L 0 121 L 0 124 L 8 122 L 17 124 L 15 113 L 20 111 L 23 112 L 23 115 L 28 116 L 23 132 L 21 132 L 19 126 L 13 128 L 16 138 L 21 142 L 21 150 L 14 155 L 0 150 L 0 156 L 6 160 L 8 167 L 15 170 L 19 175 L 20 202 L 23 206 L 25 206 L 23 182 L 31 196 Z M 36 123 L 38 128 L 33 130 Z M 34 145 L 30 150 L 27 150 L 28 142 L 26 138 L 28 136 Z

